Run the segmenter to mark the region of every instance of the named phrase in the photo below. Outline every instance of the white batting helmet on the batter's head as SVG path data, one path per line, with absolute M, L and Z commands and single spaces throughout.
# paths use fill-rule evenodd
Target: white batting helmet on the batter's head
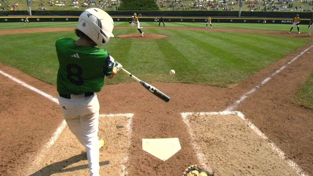
M 99 8 L 88 8 L 80 14 L 78 25 L 81 32 L 86 34 L 98 46 L 109 42 L 110 37 L 114 37 L 112 30 L 114 27 L 112 17 Z

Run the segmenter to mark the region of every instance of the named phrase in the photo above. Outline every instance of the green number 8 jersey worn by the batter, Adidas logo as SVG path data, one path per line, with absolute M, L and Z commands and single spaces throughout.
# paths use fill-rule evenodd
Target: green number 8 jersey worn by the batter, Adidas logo
M 114 62 L 104 49 L 75 44 L 72 38 L 55 42 L 59 60 L 57 91 L 60 94 L 80 95 L 99 92 L 105 75 L 111 75 Z

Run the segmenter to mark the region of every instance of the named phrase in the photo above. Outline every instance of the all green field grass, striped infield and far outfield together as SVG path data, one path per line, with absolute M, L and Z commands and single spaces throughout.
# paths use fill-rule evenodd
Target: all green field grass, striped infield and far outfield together
M 27 27 L 74 27 L 67 23 L 0 23 L 0 28 Z M 46 24 L 46 25 L 44 25 Z M 142 26 L 156 26 L 142 23 Z M 205 23 L 166 23 L 167 26 L 205 27 Z M 130 26 L 127 22 L 117 22 L 115 26 Z M 247 28 L 288 31 L 285 24 L 230 24 L 213 23 L 217 28 Z M 300 27 L 301 28 L 301 27 Z M 183 28 L 182 28 L 183 29 Z M 301 28 L 302 29 L 302 28 Z M 153 34 L 168 37 L 154 40 L 111 38 L 103 48 L 115 60 L 134 75 L 147 82 L 182 82 L 227 87 L 237 84 L 259 70 L 264 69 L 286 54 L 310 41 L 308 38 L 284 38 L 274 35 L 243 34 L 208 31 L 170 30 L 162 27 L 145 29 Z M 115 29 L 115 36 L 138 33 L 136 28 Z M 138 33 L 139 35 L 139 33 Z M 0 35 L 2 52 L 0 62 L 15 67 L 49 84 L 56 85 L 58 61 L 54 42 L 60 37 L 73 37 L 73 31 L 46 32 L 37 34 Z M 169 70 L 176 75 L 169 75 Z M 312 80 L 301 89 L 299 102 L 303 106 L 313 106 Z M 125 74 L 119 74 L 106 84 L 132 82 Z

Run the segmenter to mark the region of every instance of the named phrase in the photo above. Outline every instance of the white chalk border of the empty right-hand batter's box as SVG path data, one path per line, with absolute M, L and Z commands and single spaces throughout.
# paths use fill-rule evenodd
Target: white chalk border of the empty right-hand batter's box
M 181 113 L 182 115 L 182 119 L 183 121 L 187 124 L 188 126 L 188 131 L 191 135 L 191 139 L 192 139 L 192 144 L 194 145 L 194 148 L 196 149 L 196 154 L 198 157 L 198 160 L 200 161 L 200 163 L 206 163 L 207 160 L 204 157 L 203 152 L 201 152 L 200 147 L 197 145 L 196 142 L 196 135 L 192 132 L 190 124 L 187 120 L 188 116 L 191 115 L 230 115 L 230 114 L 234 114 L 239 116 L 259 137 L 261 137 L 261 139 L 263 139 L 267 144 L 269 144 L 270 148 L 274 151 L 276 151 L 278 153 L 278 155 L 280 156 L 280 158 L 282 158 L 291 168 L 295 169 L 296 173 L 300 176 L 308 176 L 307 174 L 305 174 L 303 172 L 303 169 L 301 169 L 295 162 L 293 162 L 291 159 L 286 158 L 286 154 L 280 150 L 275 144 L 274 142 L 272 142 L 268 137 L 266 137 L 266 135 L 261 132 L 261 130 L 259 130 L 259 128 L 257 128 L 252 122 L 249 121 L 249 119 L 247 119 L 243 113 L 239 112 L 239 111 L 222 111 L 222 112 L 183 112 Z M 210 170 L 210 172 L 213 172 L 212 169 L 208 166 L 208 169 Z

